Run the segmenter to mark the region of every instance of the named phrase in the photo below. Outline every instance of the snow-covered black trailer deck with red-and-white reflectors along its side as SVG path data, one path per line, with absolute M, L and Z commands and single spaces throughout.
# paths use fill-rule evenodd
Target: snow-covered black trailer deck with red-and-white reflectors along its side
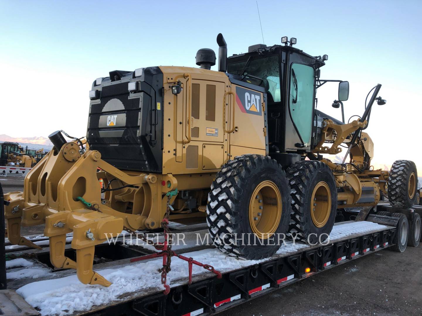
M 131 257 L 151 252 L 143 246 L 119 245 L 132 254 L 94 266 L 113 283 L 108 288 L 79 283 L 73 270 L 53 272 L 39 260 L 48 247 L 9 249 L 9 256 L 27 257 L 32 265 L 8 270 L 9 275 L 25 276 L 9 280 L 8 289 L 16 289 L 43 315 L 209 315 L 391 246 L 396 233 L 394 220 L 390 219 L 390 225 L 376 222 L 389 224 L 388 219 L 377 215 L 370 215 L 367 221 L 336 223 L 329 244 L 310 246 L 289 241 L 265 260 L 238 260 L 207 245 L 203 246 L 206 249 L 181 247 L 178 253 L 214 265 L 222 272 L 222 279 L 194 266 L 189 285 L 187 264 L 175 259 L 168 274 L 171 290 L 167 296 L 162 294 L 157 272 L 161 260 L 130 262 Z M 191 233 L 202 233 L 200 228 Z M 27 271 L 31 269 L 44 273 L 29 279 Z

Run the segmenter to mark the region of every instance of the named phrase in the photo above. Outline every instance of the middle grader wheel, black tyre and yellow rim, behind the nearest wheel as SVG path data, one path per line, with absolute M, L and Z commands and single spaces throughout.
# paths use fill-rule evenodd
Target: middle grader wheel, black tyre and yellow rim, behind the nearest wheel
M 333 172 L 321 161 L 300 161 L 287 169 L 292 214 L 289 233 L 303 242 L 323 242 L 333 229 L 337 190 Z

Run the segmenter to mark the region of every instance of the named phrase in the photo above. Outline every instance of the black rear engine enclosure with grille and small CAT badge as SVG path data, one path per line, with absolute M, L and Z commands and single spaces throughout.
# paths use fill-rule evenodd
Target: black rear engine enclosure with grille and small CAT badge
M 136 91 L 128 91 L 130 82 L 136 82 Z M 147 67 L 138 77 L 115 70 L 100 85 L 94 81 L 99 98 L 89 105 L 90 149 L 118 169 L 161 172 L 162 87 L 159 67 Z

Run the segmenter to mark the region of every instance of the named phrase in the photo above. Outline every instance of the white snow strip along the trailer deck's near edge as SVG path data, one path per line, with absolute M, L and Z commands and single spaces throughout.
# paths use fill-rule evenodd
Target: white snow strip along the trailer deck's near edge
M 386 228 L 388 227 L 373 222 L 351 222 L 335 225 L 330 234 L 330 241 L 334 242 L 356 233 L 367 233 Z M 281 246 L 277 254 L 288 254 L 309 247 L 306 244 L 294 244 L 289 241 Z M 239 260 L 228 257 L 217 249 L 188 252 L 184 256 L 193 257 L 197 261 L 213 265 L 216 270 L 223 273 L 269 260 L 269 258 Z M 38 308 L 42 315 L 68 315 L 76 311 L 89 311 L 94 306 L 108 304 L 112 301 L 119 301 L 120 295 L 130 292 L 140 292 L 145 289 L 156 289 L 159 292 L 164 289 L 161 284 L 161 274 L 157 271 L 161 267 L 162 259 L 155 259 L 125 265 L 118 269 L 98 270 L 98 273 L 112 283 L 110 287 L 81 284 L 76 274 L 73 274 L 60 279 L 26 284 L 16 292 L 34 308 Z M 204 272 L 206 270 L 203 268 L 193 266 L 192 274 Z M 171 262 L 171 271 L 167 275 L 170 287 L 177 286 L 177 280 L 187 278 L 187 276 L 187 262 L 174 258 Z M 123 301 L 124 299 L 120 300 Z

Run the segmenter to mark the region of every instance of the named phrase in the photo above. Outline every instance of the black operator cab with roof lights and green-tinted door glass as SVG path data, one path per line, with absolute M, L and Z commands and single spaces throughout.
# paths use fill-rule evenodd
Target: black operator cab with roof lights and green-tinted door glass
M 283 37 L 282 43 L 250 46 L 248 53 L 228 57 L 227 75 L 231 82 L 247 88 L 265 88 L 270 155 L 281 159 L 282 164 L 287 159 L 288 164 L 291 159 L 298 159 L 298 152 L 307 153 L 314 148 L 320 139 L 323 119 L 331 118 L 316 112 L 316 89 L 327 81 L 341 80 L 321 83 L 319 69 L 325 65 L 327 55 L 314 57 L 292 47 L 295 38 L 287 41 Z M 347 95 L 348 91 L 347 83 Z

